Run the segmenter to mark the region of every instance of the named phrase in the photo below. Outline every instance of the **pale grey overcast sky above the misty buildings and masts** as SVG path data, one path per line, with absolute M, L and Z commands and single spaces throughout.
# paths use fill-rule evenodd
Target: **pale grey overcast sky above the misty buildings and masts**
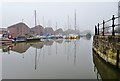
M 37 24 L 74 29 L 74 11 L 77 14 L 77 29 L 92 30 L 97 23 L 118 14 L 117 2 L 4 2 L 2 3 L 2 27 L 8 27 L 23 20 L 29 27 L 34 26 L 34 10 Z

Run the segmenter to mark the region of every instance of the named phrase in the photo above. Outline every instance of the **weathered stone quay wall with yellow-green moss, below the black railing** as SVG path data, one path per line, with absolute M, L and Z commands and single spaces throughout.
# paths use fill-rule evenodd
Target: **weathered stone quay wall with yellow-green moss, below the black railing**
M 120 69 L 120 35 L 95 35 L 93 50 L 106 62 Z

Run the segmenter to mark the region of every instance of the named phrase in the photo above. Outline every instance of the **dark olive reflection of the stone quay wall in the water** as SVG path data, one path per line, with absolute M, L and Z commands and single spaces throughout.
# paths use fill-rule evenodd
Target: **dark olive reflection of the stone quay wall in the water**
M 94 51 L 93 51 L 93 62 L 94 62 L 94 72 L 97 75 L 97 79 L 117 79 L 120 80 L 120 73 L 103 61 Z

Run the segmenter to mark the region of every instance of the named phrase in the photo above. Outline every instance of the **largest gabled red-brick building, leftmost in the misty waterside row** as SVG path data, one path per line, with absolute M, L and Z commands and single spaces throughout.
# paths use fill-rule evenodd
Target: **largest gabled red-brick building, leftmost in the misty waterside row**
M 24 23 L 17 23 L 8 27 L 8 31 L 13 37 L 25 36 L 30 34 L 30 28 Z

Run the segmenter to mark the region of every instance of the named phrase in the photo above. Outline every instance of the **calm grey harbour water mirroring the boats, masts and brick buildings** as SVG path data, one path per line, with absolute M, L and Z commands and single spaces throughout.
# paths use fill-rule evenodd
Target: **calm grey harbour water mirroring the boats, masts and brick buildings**
M 3 79 L 97 79 L 102 76 L 96 74 L 92 38 L 17 43 L 3 46 L 2 55 Z

